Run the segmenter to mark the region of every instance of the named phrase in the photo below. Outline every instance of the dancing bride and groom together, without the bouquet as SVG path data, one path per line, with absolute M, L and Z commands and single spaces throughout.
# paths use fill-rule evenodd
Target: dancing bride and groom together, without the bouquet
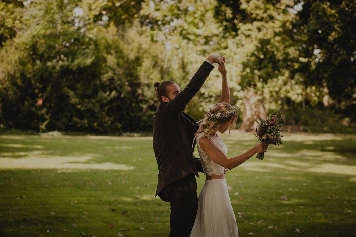
M 213 63 L 219 64 L 223 77 L 221 101 L 198 125 L 183 111 L 214 69 Z M 174 81 L 156 82 L 155 88 L 160 102 L 153 121 L 153 149 L 159 171 L 156 196 L 171 205 L 168 236 L 237 236 L 225 174 L 254 154 L 266 152 L 268 144 L 258 143 L 239 156 L 227 158 L 227 147 L 218 131 L 235 128 L 238 110 L 229 104 L 225 58 L 209 56 L 184 90 Z M 195 144 L 200 158 L 193 156 Z M 199 198 L 195 180 L 195 176 L 199 178 L 198 171 L 206 175 Z

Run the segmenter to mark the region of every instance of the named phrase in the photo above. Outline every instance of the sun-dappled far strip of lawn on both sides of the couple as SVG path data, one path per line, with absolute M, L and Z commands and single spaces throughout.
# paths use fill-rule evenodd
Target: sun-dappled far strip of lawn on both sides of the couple
M 223 137 L 229 156 L 256 144 L 249 134 Z M 0 136 L 3 168 L 122 169 L 146 164 L 156 169 L 151 137 Z M 271 145 L 265 160 L 251 158 L 243 167 L 255 172 L 276 169 L 356 175 L 356 137 L 291 135 L 281 147 Z M 32 165 L 30 165 L 32 164 Z

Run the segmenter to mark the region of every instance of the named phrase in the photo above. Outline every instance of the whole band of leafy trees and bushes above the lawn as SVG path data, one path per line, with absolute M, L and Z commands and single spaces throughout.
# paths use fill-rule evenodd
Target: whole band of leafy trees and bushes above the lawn
M 226 57 L 245 130 L 270 110 L 301 124 L 308 106 L 356 121 L 355 12 L 351 0 L 2 1 L 0 126 L 151 131 L 153 83 L 183 89 L 209 54 Z M 220 91 L 214 70 L 189 114 Z

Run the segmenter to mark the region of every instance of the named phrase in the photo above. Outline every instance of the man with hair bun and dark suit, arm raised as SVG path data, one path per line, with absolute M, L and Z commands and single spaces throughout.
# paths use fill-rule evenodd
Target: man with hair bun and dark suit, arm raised
M 171 205 L 170 237 L 190 236 L 198 208 L 195 176 L 199 178 L 198 170 L 203 172 L 192 148 L 199 126 L 183 111 L 213 70 L 212 64 L 224 62 L 223 56 L 209 56 L 184 90 L 174 81 L 155 83 L 160 102 L 153 121 L 153 150 L 158 164 L 156 196 Z

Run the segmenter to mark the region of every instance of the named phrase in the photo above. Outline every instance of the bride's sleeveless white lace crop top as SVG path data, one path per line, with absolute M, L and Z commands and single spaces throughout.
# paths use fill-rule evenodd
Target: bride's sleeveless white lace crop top
M 204 152 L 202 149 L 200 149 L 200 137 L 201 137 L 201 133 L 197 134 L 197 146 L 198 146 L 198 152 L 199 152 L 199 156 L 200 156 L 200 160 L 201 160 L 201 165 L 203 166 L 203 170 L 204 170 L 204 174 L 205 175 L 212 175 L 212 174 L 216 174 L 216 175 L 222 175 L 224 174 L 224 167 L 222 167 L 221 165 L 218 165 L 214 162 L 214 160 L 212 160 L 208 154 L 206 154 L 206 152 Z M 220 136 L 216 137 L 216 136 L 210 136 L 209 138 L 213 139 L 215 145 L 222 151 L 225 153 L 225 155 L 227 154 L 227 146 L 224 143 L 223 139 L 221 139 Z

